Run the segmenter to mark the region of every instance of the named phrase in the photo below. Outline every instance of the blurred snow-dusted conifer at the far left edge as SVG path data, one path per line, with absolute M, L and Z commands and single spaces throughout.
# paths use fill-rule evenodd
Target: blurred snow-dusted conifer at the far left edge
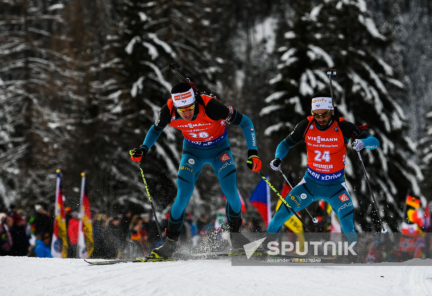
M 61 47 L 63 7 L 57 0 L 0 3 L 0 112 L 6 120 L 0 194 L 10 202 L 25 197 L 23 206 L 54 192 L 55 182 L 47 180 L 69 156 L 64 149 L 75 98 L 68 86 L 76 73 Z

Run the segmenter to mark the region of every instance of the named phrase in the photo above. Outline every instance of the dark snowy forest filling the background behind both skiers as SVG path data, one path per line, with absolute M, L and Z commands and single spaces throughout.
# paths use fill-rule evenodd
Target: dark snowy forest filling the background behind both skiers
M 308 116 L 311 95 L 329 91 L 325 70 L 336 68 L 340 116 L 371 124 L 381 142 L 362 154 L 384 220 L 397 231 L 407 192 L 423 207 L 431 198 L 431 27 L 427 0 L 0 0 L 0 211 L 53 204 L 56 169 L 72 207 L 85 172 L 95 208 L 149 208 L 128 151 L 179 82 L 168 69 L 175 62 L 200 90 L 252 119 L 262 172 L 282 189 L 268 165 L 276 146 Z M 247 199 L 260 177 L 246 167 L 241 129 L 228 129 Z M 181 142 L 166 128 L 145 161 L 161 212 L 175 197 Z M 348 151 L 356 229 L 379 230 L 358 157 Z M 283 162 L 294 183 L 305 157 L 298 145 Z M 221 195 L 205 167 L 188 211 L 215 211 Z M 256 215 L 253 207 L 248 214 Z

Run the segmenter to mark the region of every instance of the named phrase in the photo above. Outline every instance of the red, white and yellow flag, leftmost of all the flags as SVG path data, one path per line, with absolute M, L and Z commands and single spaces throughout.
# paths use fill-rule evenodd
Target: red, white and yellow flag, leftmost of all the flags
M 61 174 L 60 170 L 57 173 L 56 197 L 55 197 L 55 220 L 54 231 L 51 240 L 51 254 L 53 257 L 67 257 L 67 233 L 66 219 L 64 212 L 64 196 L 61 192 Z

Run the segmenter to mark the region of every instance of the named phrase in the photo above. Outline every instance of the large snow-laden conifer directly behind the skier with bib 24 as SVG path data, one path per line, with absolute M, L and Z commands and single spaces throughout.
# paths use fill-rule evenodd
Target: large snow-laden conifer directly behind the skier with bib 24
M 390 33 L 378 31 L 363 0 L 329 0 L 317 6 L 296 1 L 282 11 L 278 38 L 280 73 L 270 80 L 275 92 L 266 98 L 268 106 L 261 110 L 263 116 L 275 120 L 267 128 L 267 135 L 280 141 L 307 117 L 311 95 L 329 91 L 326 69 L 337 68 L 333 88 L 338 115 L 358 125 L 371 124 L 369 132 L 381 142 L 375 151 L 362 151 L 363 160 L 381 214 L 397 230 L 406 192 L 411 189 L 421 194 L 418 181 L 423 176 L 411 161 L 416 151 L 407 137 L 402 107 L 406 86 L 381 56 L 391 45 Z M 345 172 L 357 209 L 356 227 L 378 230 L 358 157 L 350 147 L 347 150 Z M 285 162 L 294 164 L 301 176 L 306 164 L 304 149 L 293 149 Z

